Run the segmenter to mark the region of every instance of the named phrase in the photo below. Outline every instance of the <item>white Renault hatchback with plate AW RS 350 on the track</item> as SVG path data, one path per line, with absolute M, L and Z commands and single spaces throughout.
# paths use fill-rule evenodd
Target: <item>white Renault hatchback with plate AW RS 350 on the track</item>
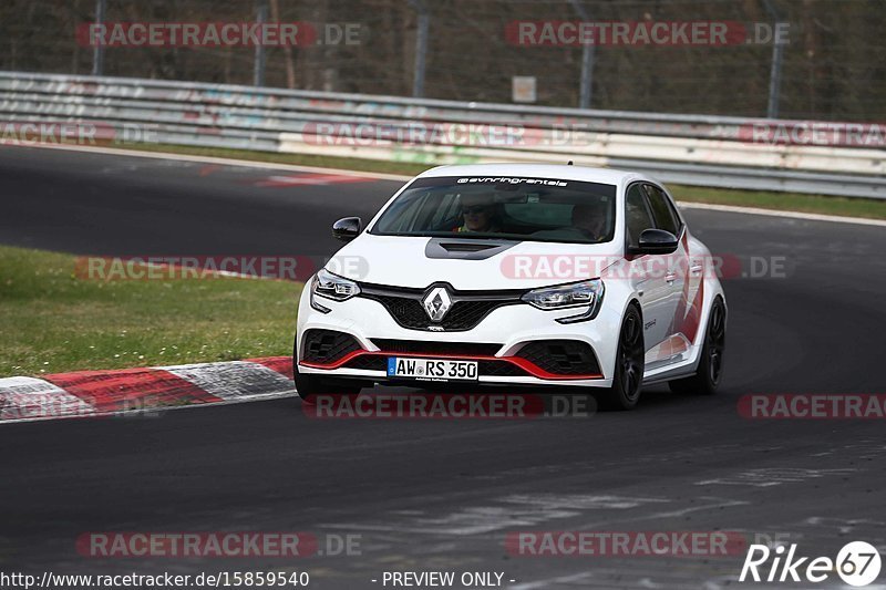
M 651 178 L 443 166 L 365 226 L 349 217 L 332 232 L 349 244 L 299 303 L 306 401 L 375 383 L 568 385 L 628 410 L 642 384 L 713 393 L 720 382 L 717 265 Z

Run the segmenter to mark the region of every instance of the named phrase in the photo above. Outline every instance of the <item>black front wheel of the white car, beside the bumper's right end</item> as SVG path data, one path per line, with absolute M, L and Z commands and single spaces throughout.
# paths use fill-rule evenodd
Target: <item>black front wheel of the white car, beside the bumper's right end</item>
M 633 410 L 640 401 L 643 383 L 643 322 L 636 306 L 628 306 L 616 351 L 612 386 L 601 396 L 600 405 L 607 410 Z

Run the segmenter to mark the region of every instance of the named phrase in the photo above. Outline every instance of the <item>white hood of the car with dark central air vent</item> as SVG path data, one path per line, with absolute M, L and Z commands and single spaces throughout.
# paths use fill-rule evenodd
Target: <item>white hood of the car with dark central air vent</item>
M 480 251 L 475 251 L 482 248 Z M 456 290 L 532 289 L 599 277 L 620 260 L 612 242 L 554 244 L 361 234 L 327 270 L 374 284 Z

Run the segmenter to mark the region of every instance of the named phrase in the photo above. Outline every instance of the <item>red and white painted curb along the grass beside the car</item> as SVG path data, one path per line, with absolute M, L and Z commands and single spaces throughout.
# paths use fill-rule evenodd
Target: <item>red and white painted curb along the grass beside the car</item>
M 290 356 L 16 376 L 0 379 L 0 423 L 152 413 L 295 394 Z

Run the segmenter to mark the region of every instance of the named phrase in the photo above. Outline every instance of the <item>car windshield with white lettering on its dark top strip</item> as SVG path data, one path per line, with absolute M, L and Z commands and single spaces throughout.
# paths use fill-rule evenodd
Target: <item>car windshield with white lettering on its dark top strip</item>
M 601 244 L 615 234 L 615 185 L 578 180 L 419 178 L 370 234 Z

